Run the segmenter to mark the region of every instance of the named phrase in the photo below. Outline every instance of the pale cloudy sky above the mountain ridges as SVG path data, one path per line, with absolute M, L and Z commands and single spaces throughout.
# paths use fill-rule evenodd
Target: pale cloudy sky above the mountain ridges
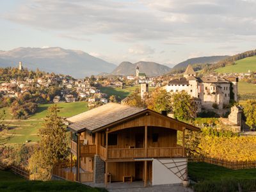
M 118 65 L 256 49 L 256 0 L 1 0 L 0 50 L 62 47 Z

